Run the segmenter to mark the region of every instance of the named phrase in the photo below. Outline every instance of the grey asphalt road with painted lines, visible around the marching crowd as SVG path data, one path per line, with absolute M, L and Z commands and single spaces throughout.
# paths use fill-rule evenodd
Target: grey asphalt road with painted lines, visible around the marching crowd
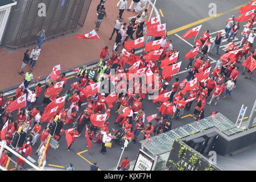
M 162 17 L 162 23 L 167 23 L 167 30 L 173 30 L 175 28 L 179 28 L 184 26 L 185 24 L 195 22 L 196 20 L 203 19 L 208 17 L 208 5 L 209 3 L 214 2 L 217 5 L 217 13 L 222 13 L 224 11 L 233 9 L 236 6 L 242 5 L 247 3 L 248 1 L 238 1 L 238 0 L 226 0 L 226 1 L 205 1 L 205 0 L 179 0 L 179 1 L 170 1 L 170 0 L 161 0 L 156 3 L 157 9 L 161 9 L 163 11 L 164 17 Z M 211 32 L 216 32 L 219 30 L 224 29 L 225 21 L 231 15 L 238 15 L 238 10 L 232 11 L 230 13 L 226 13 L 218 18 L 211 19 L 207 22 L 203 22 L 203 27 L 199 35 L 203 33 L 204 30 L 209 29 Z M 242 23 L 245 24 L 245 23 Z M 198 26 L 198 25 L 197 25 Z M 196 26 L 193 26 L 196 27 Z M 191 27 L 192 28 L 192 27 Z M 189 28 L 179 31 L 176 34 L 182 36 Z M 241 32 L 241 31 L 240 31 Z M 213 35 L 214 36 L 214 35 Z M 241 34 L 237 35 L 237 38 L 241 39 Z M 185 67 L 188 64 L 188 60 L 184 60 L 185 54 L 192 49 L 188 43 L 185 43 L 183 40 L 178 38 L 176 35 L 168 36 L 168 39 L 171 39 L 174 45 L 174 48 L 180 51 L 180 59 L 179 61 L 183 61 L 181 64 L 180 71 L 184 71 Z M 189 39 L 188 42 L 192 43 L 192 39 Z M 224 53 L 224 51 L 220 51 L 220 53 Z M 213 54 L 212 59 L 218 60 L 218 56 Z M 215 64 L 212 64 L 214 67 Z M 240 72 L 242 71 L 242 66 L 238 64 L 240 67 Z M 180 80 L 183 80 L 187 76 L 187 73 L 182 73 L 178 77 Z M 240 75 L 237 81 L 237 88 L 232 93 L 232 98 L 227 98 L 226 100 L 221 99 L 218 101 L 218 104 L 205 106 L 205 117 L 210 115 L 213 110 L 218 110 L 226 117 L 228 117 L 231 121 L 236 122 L 238 112 L 241 108 L 241 105 L 244 104 L 248 106 L 248 110 L 250 111 L 251 107 L 253 106 L 255 96 L 256 96 L 256 85 L 255 85 L 255 73 L 252 76 L 252 80 L 246 80 L 243 76 Z M 63 90 L 69 89 L 69 85 L 72 82 L 75 82 L 76 78 L 70 78 L 68 80 L 66 88 Z M 172 85 L 172 80 L 170 82 L 170 86 Z M 43 89 L 44 92 L 44 89 Z M 38 102 L 41 103 L 43 100 L 43 96 L 39 97 Z M 82 106 L 80 110 L 84 110 L 85 106 Z M 114 107 L 114 111 L 116 109 L 116 105 Z M 192 105 L 193 108 L 193 105 Z M 143 109 L 146 112 L 146 117 L 151 114 L 156 114 L 158 111 L 156 110 L 156 104 L 152 104 L 151 101 L 144 100 L 143 101 Z M 109 129 L 111 131 L 112 128 L 118 130 L 119 127 L 114 125 L 114 120 L 117 117 L 117 114 L 111 113 L 109 118 Z M 249 116 L 249 111 L 247 111 L 246 116 Z M 191 111 L 184 111 L 184 115 L 192 114 L 193 109 Z M 185 125 L 187 123 L 193 122 L 195 119 L 191 119 L 190 117 L 174 120 L 172 122 L 172 129 L 176 127 Z M 147 121 L 146 121 L 147 122 Z M 72 125 L 64 126 L 64 129 L 68 129 L 72 127 Z M 107 152 L 105 155 L 102 155 L 99 151 L 101 149 L 101 145 L 97 143 L 93 143 L 92 149 L 80 154 L 82 156 L 77 155 L 78 152 L 82 152 L 87 150 L 86 148 L 86 139 L 84 137 L 84 131 L 82 131 L 81 137 L 77 138 L 72 145 L 71 151 L 67 151 L 67 143 L 65 141 L 65 135 L 60 140 L 60 147 L 57 150 L 53 150 L 52 148 L 48 152 L 48 159 L 47 159 L 47 167 L 48 164 L 53 164 L 57 166 L 68 167 L 69 163 L 74 164 L 74 168 L 76 170 L 88 170 L 90 163 L 97 161 L 97 166 L 100 167 L 102 170 L 113 168 L 117 165 L 119 156 L 121 155 L 121 146 L 118 144 L 114 144 L 112 148 L 107 148 Z M 142 134 L 139 135 L 138 140 L 143 138 Z M 38 148 L 39 142 L 33 147 L 33 154 L 32 158 L 37 159 L 34 155 L 35 150 Z M 123 156 L 127 155 L 129 160 L 135 160 L 138 154 L 138 150 L 141 147 L 141 144 L 137 142 L 136 144 L 131 143 L 130 146 L 127 148 L 127 151 L 124 152 Z

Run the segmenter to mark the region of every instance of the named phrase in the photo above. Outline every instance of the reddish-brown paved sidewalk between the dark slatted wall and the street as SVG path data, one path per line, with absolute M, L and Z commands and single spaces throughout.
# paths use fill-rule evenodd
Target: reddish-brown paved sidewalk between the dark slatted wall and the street
M 75 36 L 76 34 L 88 33 L 95 28 L 94 21 L 97 18 L 96 7 L 99 2 L 100 0 L 92 1 L 83 28 L 76 31 L 74 34 L 49 40 L 43 44 L 39 60 L 33 71 L 34 79 L 38 76 L 48 76 L 51 73 L 52 67 L 57 64 L 61 64 L 61 71 L 65 71 L 69 68 L 78 67 L 79 65 L 98 60 L 100 58 L 101 49 L 105 46 L 109 46 L 109 52 L 112 53 L 115 35 L 112 40 L 109 40 L 109 38 L 113 31 L 114 20 L 118 19 L 117 15 L 119 10 L 116 7 L 117 1 L 106 1 L 105 8 L 107 17 L 104 18 L 97 32 L 98 36 L 100 36 L 100 40 L 76 39 Z M 130 6 L 130 3 L 131 0 L 128 0 L 128 6 Z M 150 14 L 150 11 L 151 10 L 148 10 L 148 14 Z M 123 13 L 124 22 L 128 24 L 128 18 L 135 15 L 137 15 L 137 13 L 133 11 L 125 11 Z M 154 14 L 152 16 L 154 16 Z M 144 36 L 146 40 L 147 35 Z M 20 76 L 18 72 L 22 65 L 23 53 L 27 49 L 32 50 L 32 48 L 34 48 L 34 46 L 19 49 L 18 51 L 10 51 L 0 47 L 0 90 L 20 85 L 23 81 L 23 76 Z M 122 50 L 122 47 L 119 48 L 119 51 L 120 50 Z M 26 73 L 30 68 L 31 67 L 27 65 L 24 72 Z

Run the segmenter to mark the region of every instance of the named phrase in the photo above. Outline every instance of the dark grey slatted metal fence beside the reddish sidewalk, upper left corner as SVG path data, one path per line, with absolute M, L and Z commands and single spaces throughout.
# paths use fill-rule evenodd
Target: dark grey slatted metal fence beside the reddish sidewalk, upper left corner
M 11 10 L 3 44 L 19 48 L 36 43 L 40 30 L 46 38 L 71 32 L 84 26 L 92 0 L 18 0 Z M 39 3 L 46 5 L 46 16 L 39 16 Z

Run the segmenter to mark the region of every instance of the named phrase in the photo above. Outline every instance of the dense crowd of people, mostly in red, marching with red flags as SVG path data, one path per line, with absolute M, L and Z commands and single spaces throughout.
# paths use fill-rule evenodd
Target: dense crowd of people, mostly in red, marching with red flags
M 76 82 L 71 84 L 70 89 L 64 90 L 64 88 L 69 88 L 69 86 L 67 86 L 65 73 L 62 73 L 56 80 L 49 78 L 46 81 L 46 90 L 44 93 L 42 84 L 40 83 L 36 83 L 35 88 L 31 86 L 31 90 L 28 86 L 32 85 L 31 82 L 34 77 L 32 75 L 33 70 L 30 69 L 24 75 L 24 82 L 16 90 L 15 97 L 6 101 L 1 92 L 0 129 L 2 129 L 2 131 L 3 128 L 5 128 L 5 123 L 8 122 L 7 131 L 3 138 L 1 135 L 1 140 L 5 140 L 8 146 L 14 147 L 13 139 L 15 132 L 24 133 L 25 137 L 22 143 L 18 144 L 19 147 L 14 147 L 15 150 L 20 151 L 22 156 L 27 158 L 31 155 L 32 150 L 35 150 L 34 147 L 32 148 L 31 146 L 34 146 L 38 140 L 40 140 L 36 154 L 42 156 L 44 151 L 46 151 L 46 154 L 48 153 L 49 146 L 47 145 L 47 137 L 51 134 L 51 131 L 55 129 L 55 125 L 53 125 L 53 120 L 55 119 L 60 123 L 60 125 L 58 124 L 60 127 L 57 127 L 51 135 L 53 135 L 53 139 L 59 141 L 61 136 L 65 133 L 68 151 L 72 143 L 75 142 L 75 139 L 80 137 L 82 131 L 85 129 L 88 147 L 90 148 L 89 141 L 92 140 L 95 143 L 101 144 L 100 152 L 106 154 L 107 148 L 111 147 L 114 143 L 121 144 L 124 140 L 127 140 L 129 142 L 128 145 L 130 145 L 131 142 L 137 142 L 139 135 L 143 135 L 143 139 L 148 139 L 154 135 L 170 131 L 172 129 L 172 122 L 174 122 L 175 119 L 179 119 L 183 115 L 184 110 L 191 110 L 193 104 L 194 109 L 193 113 L 191 113 L 191 117 L 195 117 L 196 120 L 199 120 L 204 118 L 205 104 L 210 105 L 215 101 L 214 104 L 216 105 L 220 98 L 231 97 L 231 93 L 238 84 L 237 80 L 240 75 L 238 64 L 241 63 L 243 59 L 246 60 L 249 56 L 253 59 L 256 58 L 256 51 L 252 51 L 255 38 L 255 31 L 252 30 L 255 13 L 241 32 L 242 40 L 240 46 L 236 47 L 232 41 L 240 31 L 240 25 L 238 22 L 234 22 L 234 16 L 226 22 L 225 37 L 222 37 L 220 33 L 214 38 L 212 49 L 210 49 L 209 30 L 204 31 L 203 35 L 195 39 L 195 48 L 200 48 L 201 55 L 199 53 L 189 59 L 189 64 L 187 68 L 185 68 L 189 69 L 188 75 L 184 80 L 180 80 L 177 76 L 174 76 L 174 78 L 171 76 L 162 76 L 162 67 L 160 67 L 161 61 L 179 52 L 179 50 L 175 49 L 175 45 L 172 45 L 171 40 L 168 40 L 167 36 L 149 36 L 147 39 L 146 43 L 150 43 L 154 40 L 162 41 L 160 48 L 158 48 L 163 50 L 159 60 L 147 60 L 145 57 L 148 52 L 146 51 L 143 51 L 141 55 L 137 56 L 135 55 L 135 49 L 127 50 L 129 56 L 124 53 L 118 53 L 120 52 L 119 47 L 121 47 L 122 41 L 125 43 L 129 38 L 134 40 L 133 34 L 135 31 L 136 39 L 143 36 L 143 27 L 147 19 L 147 9 L 143 9 L 136 18 L 127 22 L 128 26 L 122 19 L 122 10 L 127 9 L 129 11 L 139 2 L 140 1 L 133 0 L 129 9 L 127 9 L 126 0 L 120 0 L 118 2 L 119 19 L 115 20 L 114 29 L 109 38 L 111 40 L 116 32 L 117 38 L 115 43 L 117 45 L 114 46 L 113 51 L 109 51 L 108 46 L 102 48 L 99 57 L 100 61 L 95 67 L 88 69 L 86 65 L 84 65 L 79 68 L 76 73 Z M 101 20 L 106 16 L 106 13 L 104 13 L 104 5 L 105 1 L 101 0 L 100 5 L 97 7 L 96 30 L 100 27 Z M 137 11 L 136 8 L 135 11 Z M 40 40 L 38 40 L 39 44 L 35 49 L 33 49 L 31 53 L 29 50 L 24 53 L 22 69 L 19 72 L 21 75 L 24 73 L 23 68 L 29 61 L 31 61 L 31 67 L 35 67 L 35 62 L 40 53 L 38 49 L 42 46 L 42 41 L 45 40 L 45 36 L 42 36 L 42 34 L 44 34 L 43 31 L 39 32 L 38 36 L 40 36 Z M 230 59 L 229 56 L 221 56 L 221 59 L 217 61 L 214 67 L 214 65 L 210 63 L 208 55 L 212 54 L 214 49 L 216 49 L 218 54 L 218 49 L 224 39 L 230 41 L 226 53 L 234 50 L 238 50 L 238 52 L 232 59 Z M 134 65 L 137 65 L 137 67 Z M 156 87 L 154 82 L 147 82 L 146 85 L 150 86 L 147 86 L 146 93 L 135 93 L 135 89 L 142 90 L 144 88 L 142 80 L 134 80 L 133 88 L 124 90 L 125 86 L 122 86 L 122 84 L 128 85 L 129 79 L 127 79 L 125 83 L 123 80 L 111 80 L 109 77 L 111 69 L 114 69 L 115 75 L 136 73 L 141 69 L 143 69 L 144 73 L 147 71 L 157 73 L 158 76 L 155 77 L 155 80 L 157 80 L 159 87 Z M 196 82 L 196 86 L 194 86 L 193 89 L 187 89 L 188 84 L 195 79 L 196 74 L 203 73 L 209 69 L 210 75 L 207 78 Z M 133 72 L 131 72 L 131 70 L 133 70 Z M 252 71 L 245 67 L 242 74 L 245 74 L 245 72 L 247 72 L 245 78 L 251 78 Z M 114 86 L 119 84 L 119 89 L 112 93 L 88 93 L 89 87 L 92 89 L 98 82 L 104 82 L 105 80 Z M 175 80 L 172 85 L 170 84 L 171 80 Z M 54 88 L 59 82 L 63 82 L 61 90 L 64 91 L 61 92 L 60 90 L 57 94 L 48 94 L 49 90 Z M 157 102 L 155 107 L 159 113 L 158 116 L 152 118 L 151 121 L 146 118 L 146 115 L 148 115 L 147 110 L 143 109 L 143 101 L 147 100 L 147 96 L 151 94 L 148 92 L 148 88 L 152 88 L 154 92 L 159 92 L 159 97 L 171 92 L 170 94 L 166 94 L 167 98 L 164 100 L 158 100 L 158 97 L 155 97 L 153 102 Z M 9 106 L 24 94 L 27 95 L 26 107 L 19 108 L 18 113 L 14 115 L 15 111 L 9 111 Z M 39 103 L 38 101 L 41 95 L 44 97 L 43 103 Z M 48 117 L 46 121 L 42 121 L 43 115 L 46 114 L 49 105 L 61 98 L 65 99 L 65 104 L 55 110 L 55 114 Z M 213 114 L 215 113 L 217 113 L 217 111 L 213 112 Z M 58 116 L 57 118 L 55 118 L 56 115 Z M 96 121 L 102 121 L 100 118 L 102 115 L 106 115 L 104 122 L 102 122 L 101 126 L 95 125 L 94 122 L 92 122 L 92 118 L 96 118 Z M 109 120 L 110 115 L 114 115 L 116 118 L 115 121 Z M 115 129 L 109 128 L 110 122 L 117 125 Z M 69 129 L 64 130 L 64 127 Z M 121 167 L 119 167 L 122 170 L 128 168 L 129 160 L 127 160 L 127 156 L 125 159 L 126 160 L 123 160 L 121 163 Z M 7 151 L 3 152 L 1 156 L 0 165 L 5 166 L 6 163 Z M 16 163 L 17 169 L 25 167 L 22 159 L 18 158 Z M 97 163 L 94 163 L 94 166 L 96 166 L 96 164 Z M 72 166 L 73 164 L 69 166 L 68 170 L 73 170 Z M 94 166 L 91 166 L 92 170 L 98 168 Z

